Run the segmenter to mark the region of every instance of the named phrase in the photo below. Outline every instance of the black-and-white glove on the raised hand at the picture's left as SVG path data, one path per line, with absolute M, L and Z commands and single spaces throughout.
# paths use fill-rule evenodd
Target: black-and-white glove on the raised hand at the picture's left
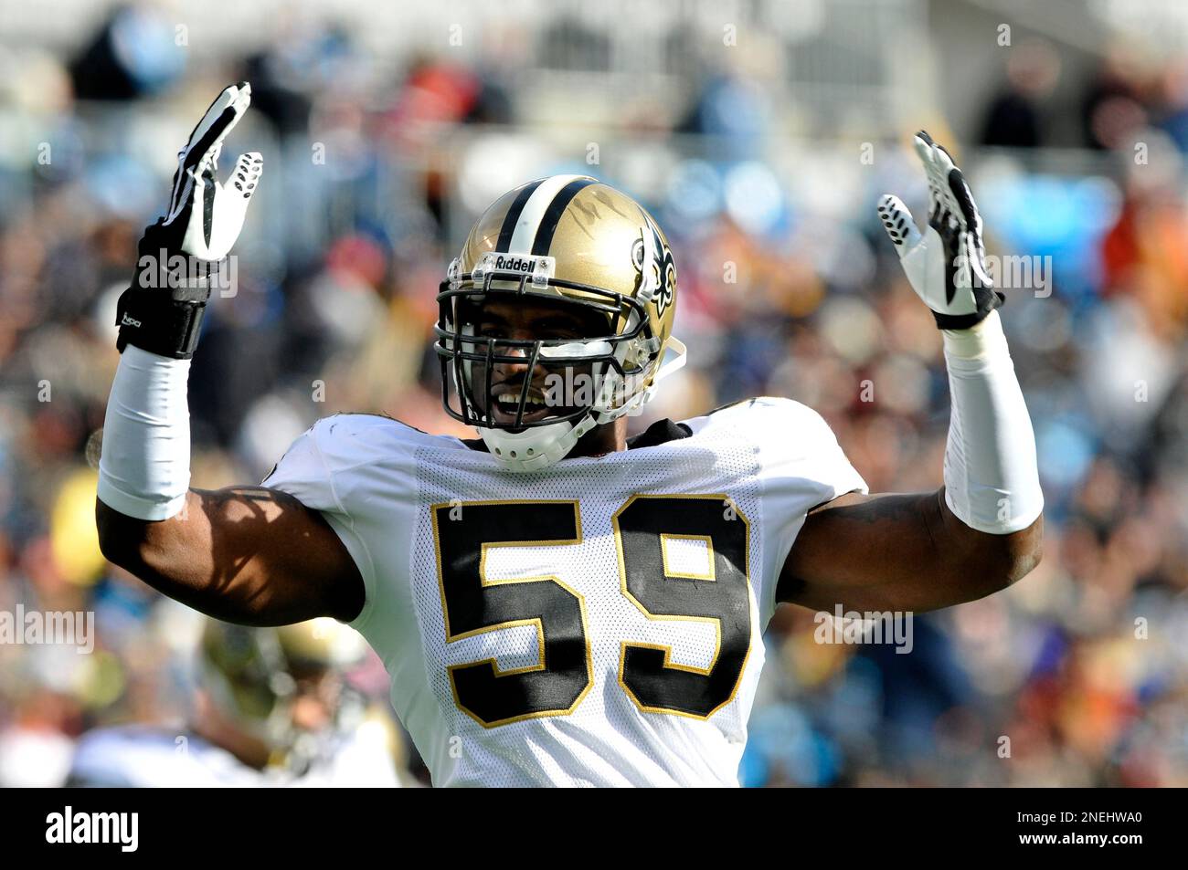
M 215 178 L 223 139 L 252 102 L 252 85 L 233 84 L 210 103 L 207 114 L 177 153 L 173 193 L 160 226 L 169 230 L 170 253 L 198 260 L 222 260 L 239 239 L 247 203 L 264 170 L 264 158 L 249 151 L 239 158 L 225 186 Z

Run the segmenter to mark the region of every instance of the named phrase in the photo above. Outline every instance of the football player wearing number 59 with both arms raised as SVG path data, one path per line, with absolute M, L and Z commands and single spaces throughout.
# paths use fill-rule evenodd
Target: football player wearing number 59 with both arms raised
M 214 161 L 248 96 L 240 84 L 211 107 L 143 247 L 227 254 L 260 163 L 228 188 Z M 436 785 L 737 785 L 779 604 L 930 610 L 1040 558 L 1034 436 L 981 220 L 948 153 L 924 133 L 915 147 L 928 226 L 893 197 L 879 214 L 943 334 L 937 490 L 868 494 L 824 420 L 781 398 L 628 439 L 684 350 L 672 253 L 631 197 L 554 176 L 487 209 L 437 297 L 443 401 L 473 440 L 339 414 L 263 485 L 191 490 L 187 377 L 209 290 L 202 269 L 171 291 L 134 282 L 103 434 L 103 552 L 221 620 L 348 622 Z

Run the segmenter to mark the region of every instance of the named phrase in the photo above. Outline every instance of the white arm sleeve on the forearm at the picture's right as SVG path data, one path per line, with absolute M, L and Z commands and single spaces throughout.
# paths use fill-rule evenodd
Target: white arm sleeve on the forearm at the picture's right
M 971 329 L 942 330 L 953 412 L 944 501 L 990 534 L 1026 528 L 1043 510 L 1031 418 L 997 311 Z

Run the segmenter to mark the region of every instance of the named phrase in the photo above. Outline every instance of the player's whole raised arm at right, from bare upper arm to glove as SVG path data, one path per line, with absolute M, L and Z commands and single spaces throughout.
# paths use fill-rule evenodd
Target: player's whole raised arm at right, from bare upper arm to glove
M 777 598 L 832 610 L 931 610 L 990 595 L 1040 561 L 1043 494 L 1035 437 L 986 273 L 981 217 L 961 171 L 927 133 L 923 234 L 893 196 L 879 217 L 944 339 L 952 414 L 944 487 L 843 495 L 811 510 Z

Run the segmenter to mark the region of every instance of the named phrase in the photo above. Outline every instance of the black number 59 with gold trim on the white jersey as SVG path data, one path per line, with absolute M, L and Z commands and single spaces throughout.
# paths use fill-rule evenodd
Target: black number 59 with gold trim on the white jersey
M 573 712 L 594 685 L 586 602 L 563 577 L 491 580 L 486 559 L 492 547 L 581 544 L 579 502 L 453 502 L 430 510 L 446 640 L 513 625 L 537 633 L 536 665 L 449 666 L 457 706 L 486 728 Z M 674 663 L 669 647 L 620 639 L 619 685 L 645 712 L 708 718 L 734 697 L 751 646 L 750 523 L 715 494 L 636 495 L 613 525 L 621 593 L 649 620 L 707 622 L 715 631 L 706 668 Z M 524 540 L 524 529 L 535 538 Z M 708 573 L 669 569 L 665 539 L 677 538 L 704 541 Z

